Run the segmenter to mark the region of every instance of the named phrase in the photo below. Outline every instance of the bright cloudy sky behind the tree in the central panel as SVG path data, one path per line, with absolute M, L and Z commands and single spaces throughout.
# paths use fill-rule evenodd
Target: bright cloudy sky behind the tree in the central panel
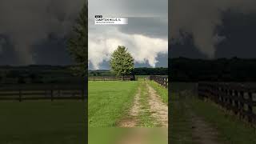
M 89 0 L 89 69 L 110 69 L 110 55 L 126 46 L 135 67 L 168 66 L 167 0 Z M 127 25 L 94 25 L 94 15 L 126 17 Z

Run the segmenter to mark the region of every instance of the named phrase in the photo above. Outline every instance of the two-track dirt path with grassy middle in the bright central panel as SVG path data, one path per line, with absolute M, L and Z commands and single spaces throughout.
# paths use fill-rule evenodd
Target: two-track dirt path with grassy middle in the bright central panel
M 118 122 L 118 127 L 168 127 L 168 106 L 149 81 L 139 82 L 129 113 Z

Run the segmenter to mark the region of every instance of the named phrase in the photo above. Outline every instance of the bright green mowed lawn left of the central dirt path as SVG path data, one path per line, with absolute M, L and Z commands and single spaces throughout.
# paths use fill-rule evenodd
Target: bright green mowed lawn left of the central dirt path
M 130 110 L 138 82 L 89 82 L 88 122 L 90 127 L 116 126 Z

